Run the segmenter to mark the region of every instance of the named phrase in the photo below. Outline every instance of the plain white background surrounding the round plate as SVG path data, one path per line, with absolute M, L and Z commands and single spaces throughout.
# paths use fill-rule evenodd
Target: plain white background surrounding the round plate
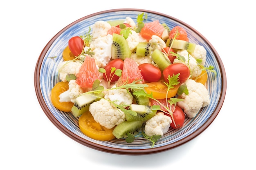
M 153 3 L 156 2 L 156 3 Z M 0 169 L 255 169 L 255 6 L 253 1 L 9 0 L 0 2 Z M 118 8 L 171 15 L 218 51 L 227 93 L 213 123 L 195 139 L 153 155 L 115 155 L 85 147 L 56 128 L 34 89 L 36 61 L 68 24 Z

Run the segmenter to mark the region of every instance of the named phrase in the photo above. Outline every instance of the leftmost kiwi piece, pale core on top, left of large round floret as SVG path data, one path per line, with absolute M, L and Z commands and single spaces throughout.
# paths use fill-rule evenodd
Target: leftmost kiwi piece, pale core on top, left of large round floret
M 75 117 L 82 115 L 83 113 L 89 111 L 90 104 L 99 100 L 98 97 L 88 94 L 80 95 L 76 97 L 74 106 L 71 108 L 71 112 Z

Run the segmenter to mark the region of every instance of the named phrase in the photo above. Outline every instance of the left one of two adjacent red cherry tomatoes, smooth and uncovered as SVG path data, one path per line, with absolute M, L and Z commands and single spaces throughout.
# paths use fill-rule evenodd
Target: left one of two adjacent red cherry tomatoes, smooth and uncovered
M 140 64 L 139 69 L 144 80 L 148 82 L 157 82 L 162 76 L 161 70 L 149 63 Z

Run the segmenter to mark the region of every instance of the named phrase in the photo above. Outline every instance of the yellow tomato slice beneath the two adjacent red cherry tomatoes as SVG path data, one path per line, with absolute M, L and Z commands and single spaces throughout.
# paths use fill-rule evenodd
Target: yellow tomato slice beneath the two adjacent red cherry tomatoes
M 168 91 L 167 93 L 167 86 L 163 83 L 163 80 L 158 81 L 158 82 L 150 82 L 150 83 L 146 83 L 148 85 L 148 87 L 145 87 L 145 91 L 148 94 L 153 95 L 153 97 L 155 99 L 165 99 L 167 98 L 171 98 L 174 97 L 177 94 L 179 85 L 176 85 L 175 88 L 171 88 L 170 91 Z M 166 96 L 167 93 L 167 96 Z

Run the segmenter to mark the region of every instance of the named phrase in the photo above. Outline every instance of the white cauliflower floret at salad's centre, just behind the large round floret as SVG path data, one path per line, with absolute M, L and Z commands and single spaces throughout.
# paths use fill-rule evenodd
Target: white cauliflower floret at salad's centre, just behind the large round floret
M 112 86 L 115 88 L 116 86 Z M 130 105 L 132 104 L 132 94 L 126 89 L 111 89 L 104 91 L 104 98 L 110 99 L 111 102 L 115 102 L 118 105 Z

